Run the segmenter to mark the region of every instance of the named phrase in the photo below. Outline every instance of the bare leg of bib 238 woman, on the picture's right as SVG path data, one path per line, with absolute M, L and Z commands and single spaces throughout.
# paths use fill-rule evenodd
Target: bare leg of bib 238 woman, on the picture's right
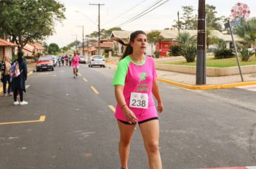
M 159 151 L 159 121 L 150 120 L 140 124 L 140 131 L 147 150 L 150 169 L 162 169 Z

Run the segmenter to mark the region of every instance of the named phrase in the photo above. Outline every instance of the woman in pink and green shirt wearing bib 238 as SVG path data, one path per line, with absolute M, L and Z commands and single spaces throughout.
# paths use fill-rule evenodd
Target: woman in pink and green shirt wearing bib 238
M 163 104 L 156 81 L 155 62 L 146 57 L 147 35 L 136 31 L 130 35 L 127 46 L 116 69 L 113 85 L 116 96 L 115 117 L 119 125 L 119 156 L 122 169 L 127 169 L 129 147 L 136 123 L 139 123 L 150 169 L 162 169 L 159 150 L 159 121 L 157 112 Z M 157 100 L 157 107 L 152 95 Z

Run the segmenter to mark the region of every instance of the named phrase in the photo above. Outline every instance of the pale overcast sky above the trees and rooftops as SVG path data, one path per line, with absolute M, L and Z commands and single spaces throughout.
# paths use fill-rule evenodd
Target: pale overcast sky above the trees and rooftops
M 82 41 L 82 28 L 84 26 L 84 34 L 98 31 L 98 6 L 91 4 L 104 4 L 101 6 L 101 29 L 110 29 L 119 26 L 124 21 L 132 19 L 133 16 L 147 9 L 148 6 L 154 4 L 156 0 L 59 0 L 65 5 L 66 19 L 62 24 L 57 23 L 55 26 L 55 34 L 47 39 L 47 43 L 57 43 L 63 47 L 76 39 Z M 163 0 L 164 2 L 166 0 Z M 229 16 L 232 7 L 238 2 L 247 4 L 250 7 L 250 17 L 256 16 L 255 0 L 206 0 L 206 4 L 216 6 L 217 16 Z M 138 5 L 137 5 L 138 4 Z M 160 3 L 161 4 L 161 3 Z M 136 6 L 137 5 L 137 6 Z M 136 6 L 136 7 L 134 7 Z M 173 21 L 177 19 L 177 11 L 182 14 L 181 6 L 193 6 L 198 9 L 198 0 L 170 0 L 150 11 L 145 16 L 140 17 L 129 24 L 121 26 L 127 31 L 151 29 L 165 29 L 173 25 Z M 134 7 L 132 9 L 132 7 Z M 129 10 L 131 9 L 131 10 Z M 79 11 L 79 12 L 76 12 Z M 121 15 L 121 16 L 120 16 Z

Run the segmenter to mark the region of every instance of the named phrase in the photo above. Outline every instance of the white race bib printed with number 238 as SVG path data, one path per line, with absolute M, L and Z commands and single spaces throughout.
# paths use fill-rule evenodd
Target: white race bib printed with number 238
M 147 107 L 148 107 L 147 93 L 131 92 L 131 97 L 129 100 L 129 107 L 147 109 Z

